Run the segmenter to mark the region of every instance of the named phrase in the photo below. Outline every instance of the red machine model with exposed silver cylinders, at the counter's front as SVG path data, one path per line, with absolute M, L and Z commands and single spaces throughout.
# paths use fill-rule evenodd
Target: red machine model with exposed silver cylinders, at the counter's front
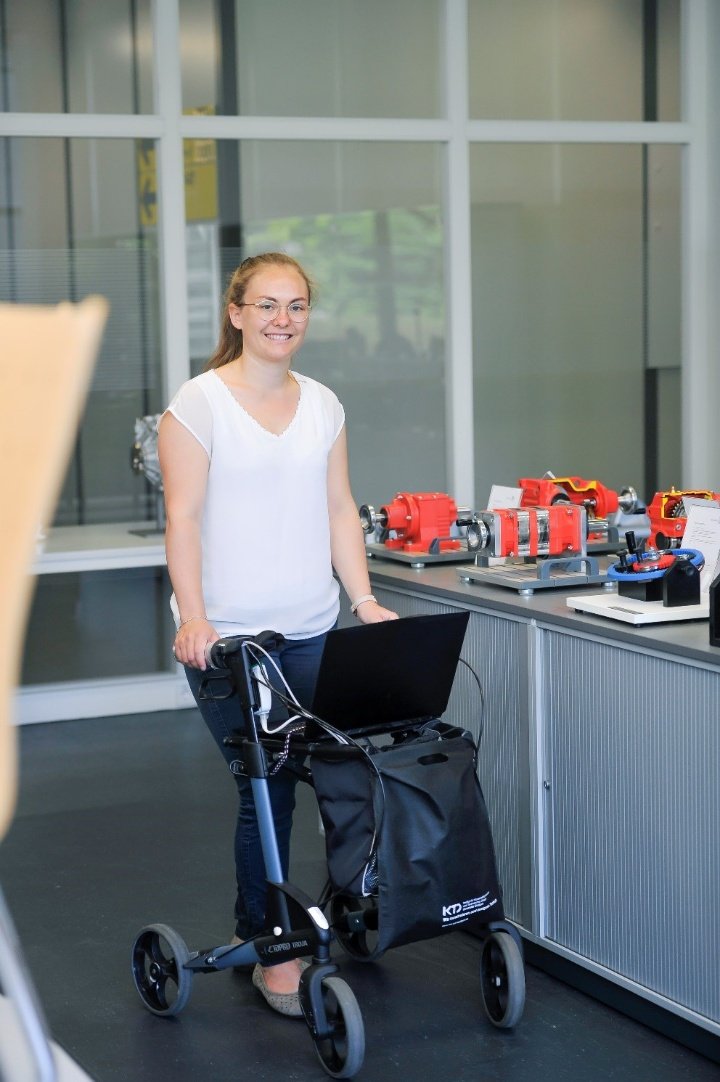
M 468 549 L 512 558 L 584 555 L 585 507 L 562 503 L 481 511 L 468 524 Z

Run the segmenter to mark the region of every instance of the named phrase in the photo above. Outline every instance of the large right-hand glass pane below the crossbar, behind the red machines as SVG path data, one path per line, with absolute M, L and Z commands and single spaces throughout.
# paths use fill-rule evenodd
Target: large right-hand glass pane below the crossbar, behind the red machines
M 662 151 L 472 147 L 481 500 L 546 471 L 680 487 L 680 156 Z

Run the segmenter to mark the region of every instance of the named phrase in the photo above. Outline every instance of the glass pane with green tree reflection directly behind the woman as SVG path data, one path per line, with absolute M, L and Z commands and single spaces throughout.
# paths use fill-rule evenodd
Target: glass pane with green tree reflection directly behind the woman
M 345 407 L 358 502 L 444 490 L 442 148 L 246 140 L 209 154 L 218 162 L 215 201 L 223 183 L 235 184 L 233 199 L 224 192 L 235 219 L 188 228 L 193 372 L 212 352 L 218 283 L 246 255 L 290 252 L 316 286 L 294 367 L 330 385 Z M 191 155 L 186 143 L 186 161 Z

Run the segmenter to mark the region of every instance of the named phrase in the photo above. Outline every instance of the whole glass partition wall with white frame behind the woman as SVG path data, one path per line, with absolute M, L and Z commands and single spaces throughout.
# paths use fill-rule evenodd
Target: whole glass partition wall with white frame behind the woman
M 681 0 L 100 6 L 0 0 L 0 300 L 112 303 L 56 526 L 152 524 L 134 420 L 266 249 L 317 283 L 297 367 L 345 406 L 358 503 L 681 483 Z M 163 572 L 130 607 L 56 578 L 32 620 L 66 656 L 27 684 L 129 679 L 95 620 L 173 675 Z

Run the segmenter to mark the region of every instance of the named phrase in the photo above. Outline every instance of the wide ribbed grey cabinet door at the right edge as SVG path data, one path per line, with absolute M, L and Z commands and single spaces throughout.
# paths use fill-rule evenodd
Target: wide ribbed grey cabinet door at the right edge
M 542 632 L 545 936 L 712 1019 L 720 675 Z

